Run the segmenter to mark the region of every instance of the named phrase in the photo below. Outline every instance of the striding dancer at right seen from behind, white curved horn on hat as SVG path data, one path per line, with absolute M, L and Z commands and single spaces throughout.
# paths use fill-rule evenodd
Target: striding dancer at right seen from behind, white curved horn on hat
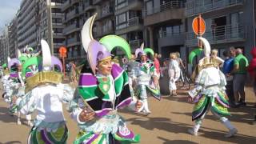
M 199 61 L 198 74 L 195 74 L 197 75 L 195 86 L 193 90 L 189 91 L 189 102 L 195 104 L 192 113 L 192 120 L 195 121 L 195 125 L 188 132 L 192 135 L 198 135 L 202 119 L 210 110 L 229 130 L 225 137 L 232 137 L 238 133 L 238 130 L 225 117 L 230 113 L 227 110 L 229 106 L 225 92 L 226 78 L 222 71 L 218 70 L 221 62 L 217 58 L 210 57 L 210 43 L 206 38 L 199 39 L 204 46 L 206 57 Z

